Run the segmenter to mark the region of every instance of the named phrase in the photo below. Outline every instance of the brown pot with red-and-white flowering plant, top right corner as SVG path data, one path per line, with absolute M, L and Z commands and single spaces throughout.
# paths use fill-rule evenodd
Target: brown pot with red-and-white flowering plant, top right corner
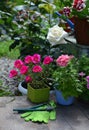
M 62 14 L 61 17 L 64 19 L 74 17 L 77 43 L 89 45 L 89 0 L 72 0 L 69 6 L 66 6 L 66 2 L 64 2 Z

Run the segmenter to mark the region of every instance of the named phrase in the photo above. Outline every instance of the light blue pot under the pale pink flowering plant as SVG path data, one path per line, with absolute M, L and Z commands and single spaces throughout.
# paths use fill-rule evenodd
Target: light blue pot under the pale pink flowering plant
M 68 97 L 65 99 L 62 95 L 62 92 L 59 90 L 55 90 L 55 95 L 56 95 L 56 101 L 60 105 L 71 105 L 74 102 L 74 97 Z

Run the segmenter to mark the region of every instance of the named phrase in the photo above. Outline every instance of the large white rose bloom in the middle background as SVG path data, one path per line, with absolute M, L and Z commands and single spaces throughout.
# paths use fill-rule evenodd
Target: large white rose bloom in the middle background
M 49 28 L 47 39 L 51 45 L 56 45 L 60 43 L 65 43 L 64 37 L 68 36 L 68 33 L 63 30 L 62 27 L 58 25 Z

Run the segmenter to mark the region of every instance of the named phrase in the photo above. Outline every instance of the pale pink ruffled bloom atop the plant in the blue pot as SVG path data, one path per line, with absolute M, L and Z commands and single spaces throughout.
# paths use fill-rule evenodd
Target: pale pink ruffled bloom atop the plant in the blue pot
M 56 60 L 56 63 L 58 66 L 65 67 L 68 65 L 69 61 L 73 58 L 73 56 L 68 56 L 68 55 L 61 55 L 58 57 Z

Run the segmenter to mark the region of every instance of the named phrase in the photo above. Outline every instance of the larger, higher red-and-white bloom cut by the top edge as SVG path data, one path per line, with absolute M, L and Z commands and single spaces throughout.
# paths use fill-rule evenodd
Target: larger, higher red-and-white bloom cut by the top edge
M 75 8 L 77 11 L 82 11 L 85 7 L 85 0 L 74 0 L 73 8 Z

